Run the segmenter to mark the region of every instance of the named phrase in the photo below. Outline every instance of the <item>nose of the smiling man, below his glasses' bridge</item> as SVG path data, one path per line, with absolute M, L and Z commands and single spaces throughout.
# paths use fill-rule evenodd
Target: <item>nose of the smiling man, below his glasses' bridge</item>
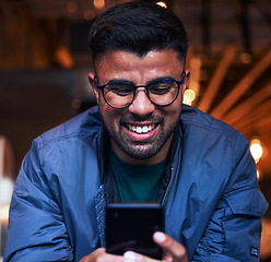
M 154 109 L 155 106 L 149 99 L 145 88 L 144 87 L 137 88 L 137 94 L 132 104 L 129 106 L 129 111 L 138 116 L 146 116 L 152 114 Z

